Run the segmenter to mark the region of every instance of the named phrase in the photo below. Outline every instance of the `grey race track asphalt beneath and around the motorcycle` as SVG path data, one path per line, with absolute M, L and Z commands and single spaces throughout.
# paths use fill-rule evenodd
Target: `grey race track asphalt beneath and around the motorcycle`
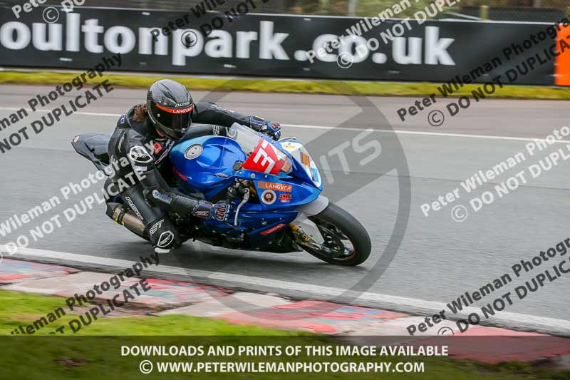
M 16 109 L 28 108 L 29 98 L 37 93 L 48 93 L 53 86 L 0 86 L 0 89 L 0 117 L 5 118 Z M 75 91 L 71 94 L 78 95 Z M 286 125 L 284 135 L 294 135 L 301 142 L 309 143 L 315 158 L 328 155 L 335 180 L 325 183 L 324 193 L 362 222 L 371 235 L 373 253 L 360 267 L 335 267 L 304 252 L 286 255 L 237 252 L 187 242 L 174 255 L 163 259 L 165 265 L 348 289 L 373 268 L 388 244 L 398 216 L 398 205 L 405 202 L 400 198 L 402 193 L 405 194 L 405 191 L 400 192 L 400 186 L 405 188 L 409 181 L 409 220 L 404 228 L 395 231 L 395 234 L 403 235 L 401 245 L 383 275 L 367 284 L 368 292 L 447 303 L 509 273 L 512 283 L 483 297 L 475 305 L 485 305 L 511 291 L 515 302 L 508 307 L 509 312 L 569 320 L 570 275 L 563 275 L 553 282 L 546 280 L 544 287 L 524 299 L 517 299 L 513 292 L 514 287 L 530 281 L 540 272 L 549 268 L 553 272 L 552 265 L 568 255 L 556 256 L 531 272 L 523 273 L 519 279 L 514 278 L 511 269 L 520 260 L 532 260 L 541 250 L 569 237 L 568 161 L 561 159 L 559 165 L 537 178 L 527 173 L 527 183 L 520 184 L 503 197 L 497 196 L 494 185 L 520 170 L 527 170 L 530 164 L 538 163 L 548 153 L 566 149 L 566 144 L 556 143 L 530 156 L 525 144 L 531 142 L 526 139 L 545 138 L 554 129 L 569 125 L 570 102 L 484 100 L 450 117 L 445 111 L 449 101 L 438 100 L 427 110 L 402 122 L 396 110 L 411 106 L 415 98 L 203 92 L 195 93 L 194 97 L 202 101 L 215 100 L 236 111 L 278 120 Z M 60 98 L 44 110 L 69 99 L 71 96 Z M 143 99 L 145 90 L 116 88 L 83 108 L 81 114 L 64 118 L 38 135 L 32 134 L 29 140 L 0 155 L 0 223 L 53 195 L 61 197 L 63 186 L 94 173 L 93 165 L 73 151 L 71 139 L 80 133 L 112 131 L 118 115 Z M 427 114 L 433 110 L 444 112 L 443 125 L 434 127 L 427 123 Z M 31 113 L 19 123 L 1 130 L 0 140 L 45 114 Z M 346 174 L 341 161 L 328 152 L 343 142 L 353 143 L 355 136 L 367 128 L 383 130 L 374 134 L 382 145 L 380 158 L 383 160 L 361 165 L 361 158 L 366 157 L 364 153 L 361 158 L 349 160 L 351 165 Z M 400 133 L 386 132 L 390 128 Z M 393 140 L 394 136 L 398 140 Z M 401 152 L 398 144 L 403 148 Z M 471 194 L 462 190 L 462 180 L 519 152 L 527 159 L 516 168 Z M 570 155 L 569 150 L 566 153 Z M 406 163 L 409 175 L 403 170 Z M 394 165 L 400 170 L 391 170 Z M 379 173 L 384 175 L 379 176 Z M 38 222 L 73 207 L 75 202 L 99 188 L 99 185 L 93 185 L 74 195 L 56 210 L 42 215 Z M 442 210 L 432 211 L 428 217 L 423 215 L 420 205 L 445 196 L 455 188 L 460 189 L 458 200 Z M 473 211 L 469 200 L 487 190 L 494 192 L 497 199 L 478 212 Z M 455 205 L 467 207 L 466 220 L 456 222 L 452 219 L 451 210 Z M 400 205 L 400 213 L 407 214 L 407 210 L 407 205 Z M 400 215 L 404 220 L 405 216 Z M 38 223 L 33 221 L 17 233 L 1 237 L 0 243 L 15 240 L 21 234 L 29 236 L 28 230 L 36 225 Z M 71 223 L 64 222 L 63 227 L 37 242 L 32 240 L 30 247 L 127 260 L 150 252 L 146 242 L 108 220 L 103 205 L 78 216 Z M 570 268 L 570 265 L 566 264 L 566 267 Z M 286 293 L 286 289 L 283 292 Z

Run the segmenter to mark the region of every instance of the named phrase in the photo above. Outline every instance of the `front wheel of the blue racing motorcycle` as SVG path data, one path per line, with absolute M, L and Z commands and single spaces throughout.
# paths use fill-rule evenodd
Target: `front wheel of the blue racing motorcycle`
M 368 259 L 371 241 L 368 232 L 355 217 L 329 203 L 326 209 L 309 217 L 323 235 L 324 242 L 303 244 L 314 257 L 336 265 L 359 265 Z

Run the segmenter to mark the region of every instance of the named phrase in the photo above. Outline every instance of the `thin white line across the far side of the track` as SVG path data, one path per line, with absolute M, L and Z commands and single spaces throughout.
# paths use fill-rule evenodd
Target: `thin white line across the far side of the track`
M 14 107 L 0 107 L 0 111 L 19 111 L 21 108 Z M 27 110 L 30 111 L 31 110 Z M 37 112 L 50 112 L 48 110 L 38 110 Z M 74 112 L 73 115 L 88 115 L 88 116 L 109 116 L 113 118 L 120 117 L 120 113 L 96 113 L 96 112 Z M 348 128 L 348 127 L 331 127 L 327 125 L 305 125 L 305 124 L 281 124 L 289 128 L 306 128 L 306 129 L 322 129 L 322 130 L 356 130 L 359 132 L 371 130 L 373 128 Z M 444 133 L 444 132 L 422 132 L 419 130 L 381 130 L 373 129 L 378 133 L 398 133 L 400 135 L 424 135 L 424 136 L 441 136 L 441 137 L 457 137 L 457 138 L 484 138 L 491 140 L 514 140 L 514 141 L 536 141 L 540 138 L 524 138 L 513 136 L 496 136 L 496 135 L 470 135 L 467 133 Z M 570 143 L 570 140 L 555 140 L 555 143 Z

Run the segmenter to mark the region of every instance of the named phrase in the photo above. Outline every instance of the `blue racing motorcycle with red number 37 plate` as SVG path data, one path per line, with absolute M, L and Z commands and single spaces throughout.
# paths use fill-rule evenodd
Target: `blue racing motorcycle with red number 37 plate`
M 110 165 L 110 135 L 76 136 L 73 148 L 104 170 Z M 304 145 L 295 138 L 274 141 L 243 125 L 193 125 L 170 150 L 171 187 L 210 202 L 232 204 L 226 222 L 171 213 L 182 240 L 199 240 L 233 250 L 306 251 L 325 262 L 359 265 L 371 240 L 356 218 L 321 195 L 323 179 Z M 108 215 L 128 209 L 120 195 L 108 201 Z M 125 227 L 142 238 L 148 232 L 131 210 Z M 112 216 L 111 216 L 112 217 Z

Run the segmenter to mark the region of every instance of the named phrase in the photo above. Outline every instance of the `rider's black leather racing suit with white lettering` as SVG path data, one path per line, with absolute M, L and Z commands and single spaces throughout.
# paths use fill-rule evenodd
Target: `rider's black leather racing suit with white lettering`
M 135 183 L 127 190 L 122 190 L 121 195 L 145 225 L 152 245 L 162 249 L 177 247 L 180 243 L 179 235 L 165 211 L 180 215 L 194 211 L 199 217 L 204 217 L 207 211 L 201 208 L 199 200 L 173 192 L 167 185 L 161 171 L 170 170 L 167 168 L 170 165 L 168 153 L 174 141 L 158 135 L 150 120 L 133 120 L 134 113 L 135 107 L 121 115 L 109 141 L 110 161 L 128 160 L 128 165 L 124 167 L 117 165 L 119 169 L 112 181 L 116 184 L 123 180 L 125 183 L 128 182 L 125 176 L 128 176 L 130 183 Z M 214 103 L 195 103 L 192 123 L 225 127 L 239 123 L 256 129 L 255 125 L 251 125 L 249 115 L 226 110 Z

